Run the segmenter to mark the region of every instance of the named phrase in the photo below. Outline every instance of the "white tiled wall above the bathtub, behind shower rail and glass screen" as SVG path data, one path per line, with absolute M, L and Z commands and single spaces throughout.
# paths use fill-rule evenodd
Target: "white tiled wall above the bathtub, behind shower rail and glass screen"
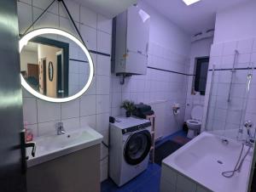
M 238 50 L 236 70 L 231 85 L 230 102 L 227 101 L 230 82 L 231 69 L 235 57 L 235 50 Z M 256 119 L 256 72 L 248 71 L 247 67 L 256 64 L 256 38 L 243 39 L 234 42 L 224 42 L 212 45 L 209 69 L 215 65 L 218 71 L 208 73 L 207 93 L 205 111 L 208 113 L 207 130 L 218 130 L 219 133 L 227 136 L 230 130 L 237 130 L 243 126 L 244 120 Z M 253 74 L 250 92 L 247 99 L 247 74 Z M 210 96 L 209 96 L 210 94 Z M 247 104 L 247 108 L 246 108 Z M 208 110 L 207 110 L 207 106 Z M 207 114 L 205 112 L 205 114 Z M 243 116 L 245 115 L 245 117 Z M 205 116 L 206 120 L 206 116 Z M 236 137 L 233 134 L 231 137 Z M 246 132 L 244 132 L 246 133 Z

